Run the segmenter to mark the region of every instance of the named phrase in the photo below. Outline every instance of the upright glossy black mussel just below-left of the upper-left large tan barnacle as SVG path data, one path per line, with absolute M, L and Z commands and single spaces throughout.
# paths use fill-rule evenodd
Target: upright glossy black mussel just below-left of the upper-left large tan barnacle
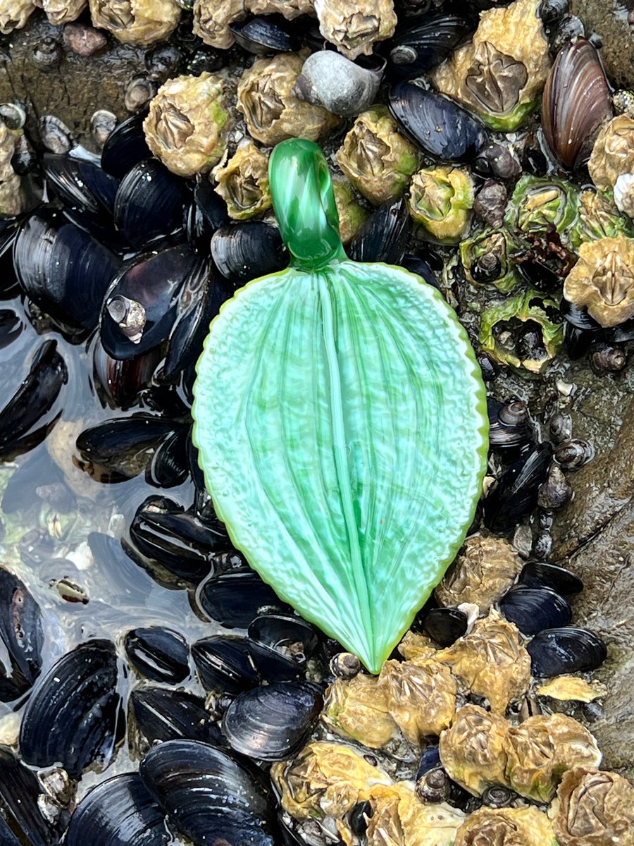
M 186 199 L 183 180 L 161 162 L 139 162 L 119 185 L 114 203 L 115 226 L 130 244 L 144 247 L 183 227 Z

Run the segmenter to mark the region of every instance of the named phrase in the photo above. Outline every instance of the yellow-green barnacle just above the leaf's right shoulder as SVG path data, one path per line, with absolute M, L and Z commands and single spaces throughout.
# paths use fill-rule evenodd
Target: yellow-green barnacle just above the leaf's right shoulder
M 409 186 L 407 208 L 427 236 L 444 244 L 455 244 L 467 232 L 471 221 L 471 175 L 463 168 L 451 166 L 419 170 Z

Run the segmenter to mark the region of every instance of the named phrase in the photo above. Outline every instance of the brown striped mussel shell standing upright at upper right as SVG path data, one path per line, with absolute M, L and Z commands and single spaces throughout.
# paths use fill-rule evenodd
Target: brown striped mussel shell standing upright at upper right
M 588 161 L 594 137 L 611 113 L 598 52 L 585 38 L 571 41 L 557 53 L 542 96 L 544 138 L 564 168 Z

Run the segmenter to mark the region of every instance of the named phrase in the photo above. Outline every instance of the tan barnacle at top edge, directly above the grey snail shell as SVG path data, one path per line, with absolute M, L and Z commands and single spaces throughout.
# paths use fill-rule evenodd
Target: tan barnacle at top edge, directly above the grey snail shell
M 347 58 L 369 55 L 396 30 L 393 0 L 314 0 L 320 32 Z

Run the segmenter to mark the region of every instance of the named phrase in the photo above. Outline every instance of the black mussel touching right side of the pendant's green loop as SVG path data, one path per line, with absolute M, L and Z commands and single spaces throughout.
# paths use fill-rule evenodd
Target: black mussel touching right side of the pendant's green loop
M 353 261 L 398 265 L 405 254 L 408 228 L 409 215 L 403 198 L 381 203 L 347 244 L 347 255 Z

